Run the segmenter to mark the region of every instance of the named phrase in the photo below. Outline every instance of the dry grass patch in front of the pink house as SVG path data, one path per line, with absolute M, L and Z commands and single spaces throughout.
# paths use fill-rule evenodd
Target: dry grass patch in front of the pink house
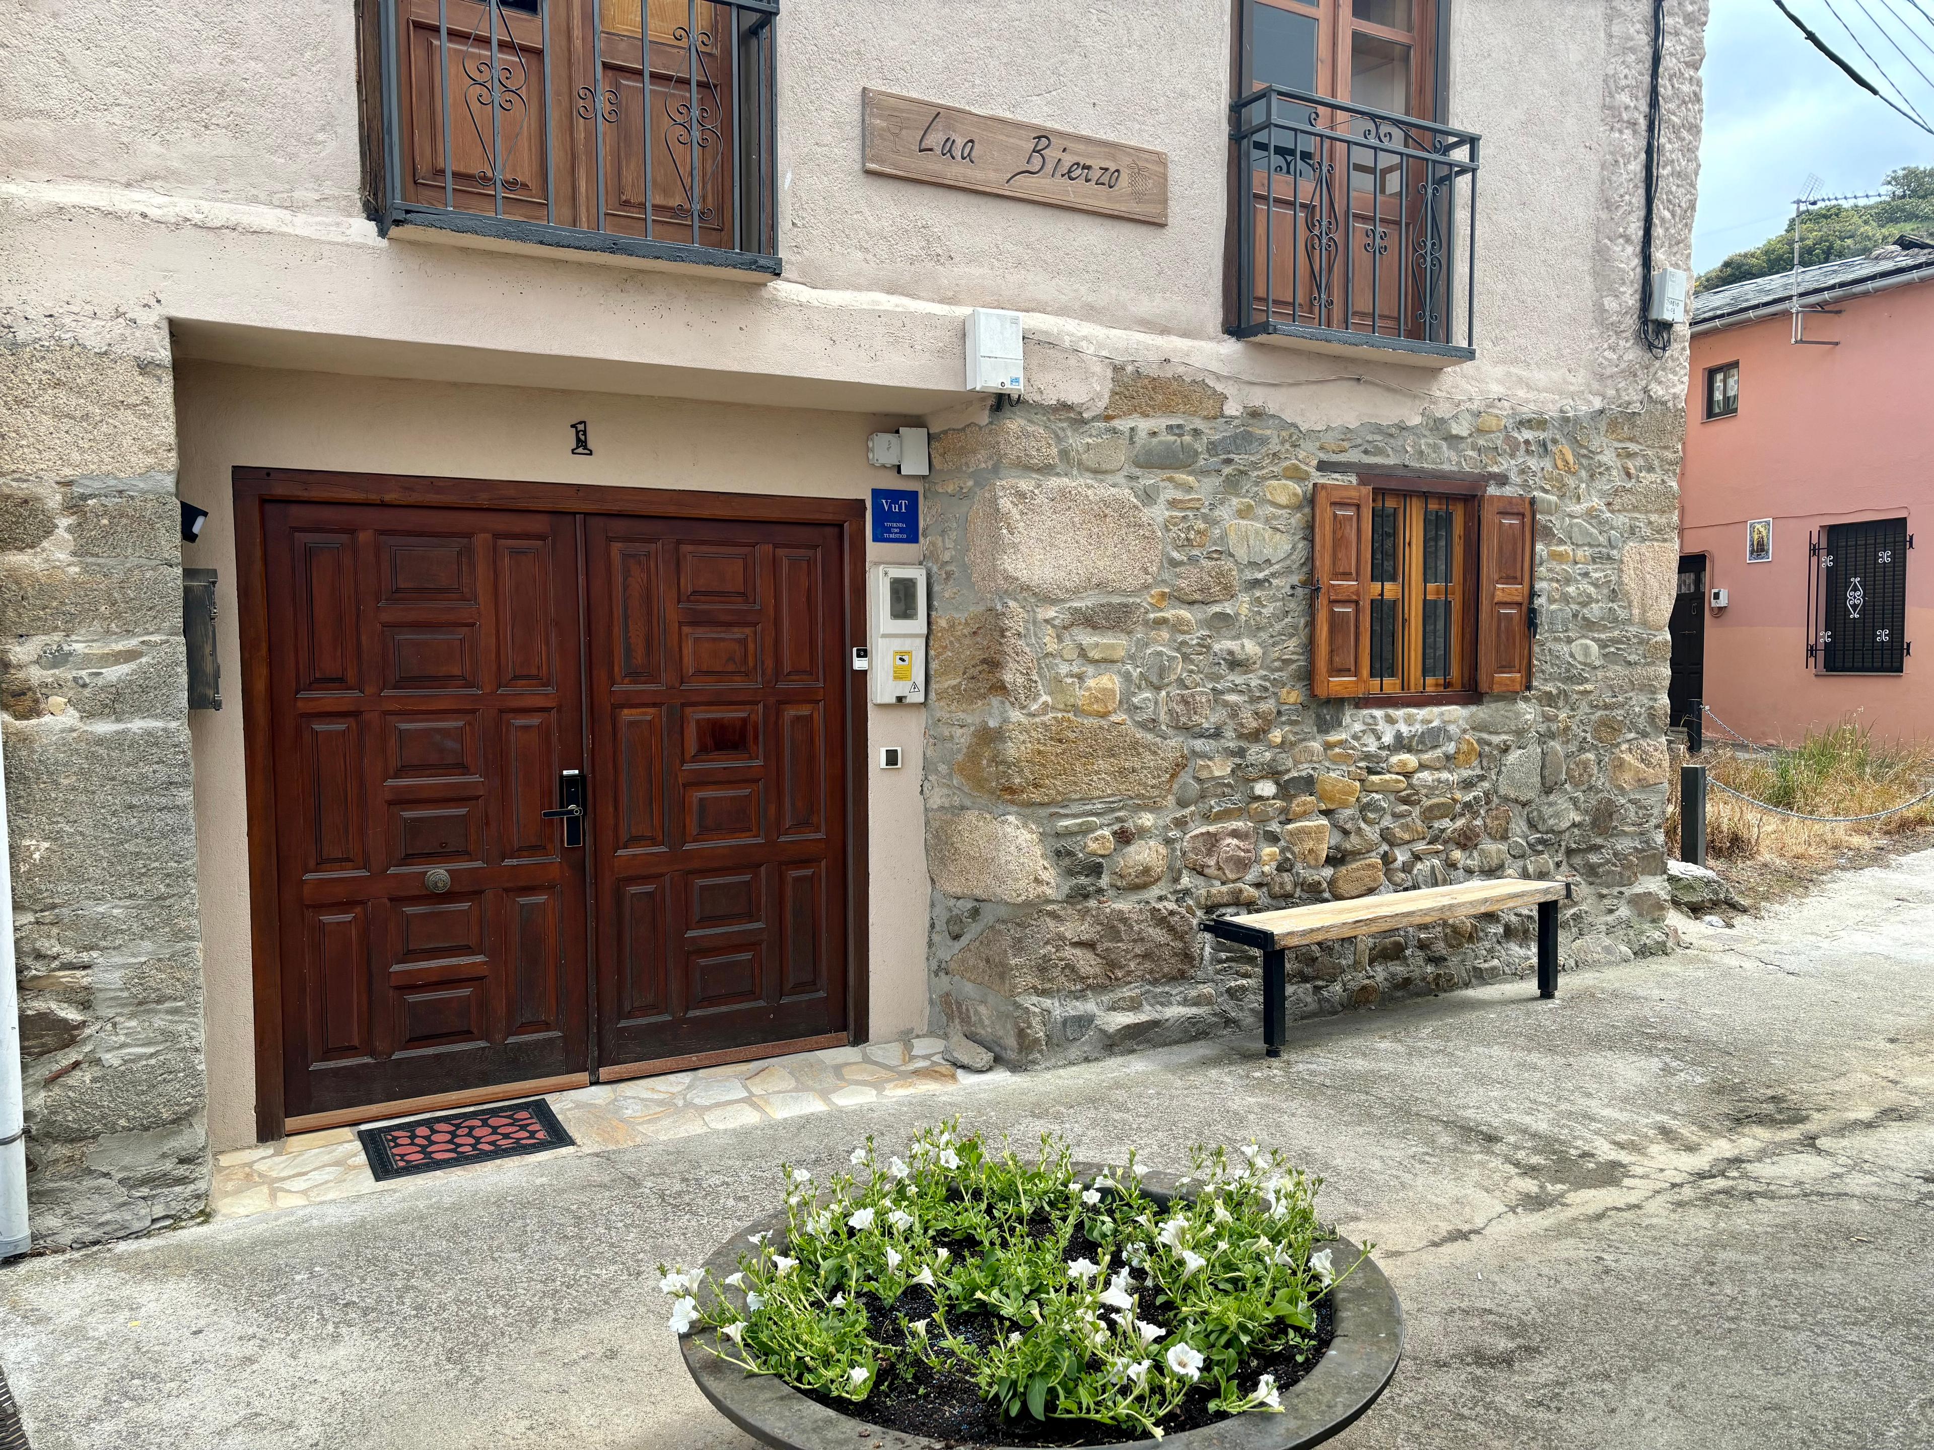
M 1783 750 L 1727 750 L 1708 742 L 1700 760 L 1714 781 L 1808 816 L 1864 816 L 1911 800 L 1934 785 L 1934 742 L 1876 740 L 1872 729 L 1862 729 L 1857 721 L 1808 735 Z M 1665 835 L 1677 855 L 1677 769 L 1671 789 Z M 1758 810 L 1725 791 L 1706 795 L 1706 853 L 1721 860 L 1837 864 L 1849 856 L 1891 855 L 1901 847 L 1899 837 L 1924 833 L 1928 827 L 1934 827 L 1934 800 L 1874 822 L 1826 826 Z

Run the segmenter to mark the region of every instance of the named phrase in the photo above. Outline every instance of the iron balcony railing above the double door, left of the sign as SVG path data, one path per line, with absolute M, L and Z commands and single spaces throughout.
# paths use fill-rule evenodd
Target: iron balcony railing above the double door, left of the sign
M 777 275 L 779 0 L 379 0 L 379 224 Z

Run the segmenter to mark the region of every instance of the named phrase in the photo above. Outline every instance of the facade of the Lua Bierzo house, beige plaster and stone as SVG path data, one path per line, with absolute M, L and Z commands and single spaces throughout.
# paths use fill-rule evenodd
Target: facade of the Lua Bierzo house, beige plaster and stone
M 288 884 L 253 769 L 259 667 L 286 636 L 240 588 L 265 578 L 244 476 L 451 508 L 516 487 L 580 516 L 652 489 L 721 528 L 921 489 L 921 543 L 851 534 L 855 594 L 868 565 L 928 566 L 932 677 L 924 708 L 853 696 L 866 847 L 843 924 L 864 951 L 828 1036 L 953 1027 L 1035 1067 L 1251 1027 L 1257 965 L 1211 947 L 1201 913 L 1476 876 L 1574 878 L 1570 967 L 1663 949 L 1686 362 L 1683 338 L 1644 344 L 1638 305 L 1644 218 L 1654 265 L 1688 255 L 1704 0 L 1665 6 L 1650 209 L 1650 0 L 1418 0 L 1433 112 L 1483 137 L 1454 358 L 1230 333 L 1232 17 L 1251 4 L 1354 25 L 1338 0 L 1106 25 L 988 0 L 973 25 L 915 6 L 882 29 L 876 6 L 783 0 L 750 261 L 381 213 L 385 0 L 44 0 L 8 31 L 0 744 L 39 1247 L 191 1222 L 215 1154 L 306 1121 L 284 1102 L 313 1065 L 284 1050 L 306 982 L 267 926 Z M 1160 151 L 1166 218 L 874 174 L 868 87 Z M 1023 323 L 1025 389 L 998 406 L 963 387 L 975 307 Z M 866 462 L 870 433 L 911 425 L 930 476 Z M 1536 499 L 1530 690 L 1313 696 L 1317 491 L 1402 470 Z M 180 503 L 207 510 L 193 543 Z M 219 711 L 188 708 L 184 566 L 217 572 Z M 849 624 L 841 650 L 866 640 Z M 1305 951 L 1292 1011 L 1518 972 L 1518 930 Z

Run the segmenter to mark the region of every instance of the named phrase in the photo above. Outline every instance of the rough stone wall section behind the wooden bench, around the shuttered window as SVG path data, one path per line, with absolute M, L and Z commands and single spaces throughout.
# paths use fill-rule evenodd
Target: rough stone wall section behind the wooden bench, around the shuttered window
M 1182 379 L 1100 418 L 932 439 L 926 797 L 936 1025 L 1039 1065 L 1261 1021 L 1267 909 L 1572 876 L 1570 965 L 1663 951 L 1665 623 L 1683 416 L 1462 410 L 1305 431 Z M 1501 472 L 1538 499 L 1526 694 L 1311 700 L 1321 460 Z M 1530 913 L 1290 957 L 1290 1013 L 1528 971 Z

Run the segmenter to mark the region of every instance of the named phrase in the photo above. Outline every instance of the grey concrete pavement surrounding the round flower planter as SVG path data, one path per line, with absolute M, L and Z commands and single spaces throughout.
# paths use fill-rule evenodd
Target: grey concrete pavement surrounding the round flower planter
M 35 1450 L 743 1446 L 650 1266 L 938 1112 L 1278 1143 L 1404 1299 L 1334 1444 L 1934 1446 L 1934 853 L 1694 949 L 0 1270 Z

